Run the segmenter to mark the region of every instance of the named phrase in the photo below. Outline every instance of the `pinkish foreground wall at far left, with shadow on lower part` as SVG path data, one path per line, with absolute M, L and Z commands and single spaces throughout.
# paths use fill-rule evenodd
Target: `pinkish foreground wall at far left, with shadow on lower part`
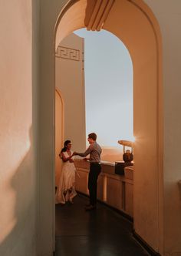
M 1 1 L 0 17 L 0 254 L 32 256 L 36 254 L 37 92 L 36 78 L 32 79 L 31 0 Z

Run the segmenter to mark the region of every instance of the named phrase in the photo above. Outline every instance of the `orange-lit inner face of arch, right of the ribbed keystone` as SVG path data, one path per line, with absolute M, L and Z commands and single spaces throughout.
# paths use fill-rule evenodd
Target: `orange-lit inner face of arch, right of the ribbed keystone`
M 136 138 L 134 229 L 147 244 L 159 251 L 159 236 L 162 235 L 158 232 L 160 223 L 157 199 L 159 171 L 162 171 L 158 168 L 161 157 L 158 153 L 160 49 L 153 31 L 154 24 L 144 15 L 145 7 L 141 3 L 137 6 L 127 1 L 115 2 L 107 21 L 104 22 L 104 29 L 122 39 L 133 61 L 133 133 Z M 149 14 L 148 12 L 147 15 Z

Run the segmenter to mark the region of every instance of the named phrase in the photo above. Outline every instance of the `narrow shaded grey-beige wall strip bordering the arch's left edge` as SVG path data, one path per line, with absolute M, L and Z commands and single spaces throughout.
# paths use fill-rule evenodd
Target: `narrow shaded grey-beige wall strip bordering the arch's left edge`
M 40 83 L 38 151 L 38 256 L 54 251 L 54 27 L 67 0 L 40 0 Z

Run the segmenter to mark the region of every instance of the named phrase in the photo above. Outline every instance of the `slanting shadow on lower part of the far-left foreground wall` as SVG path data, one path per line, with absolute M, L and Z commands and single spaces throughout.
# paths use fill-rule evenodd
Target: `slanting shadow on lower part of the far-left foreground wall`
M 10 233 L 0 244 L 0 255 L 4 256 L 32 256 L 35 254 L 36 172 L 35 164 L 33 164 L 31 129 L 30 142 L 28 153 L 8 184 L 10 190 L 15 192 L 15 207 L 12 210 L 13 206 L 8 205 L 8 200 L 5 200 L 4 213 L 12 215 L 11 219 L 15 219 L 15 227 L 9 231 Z M 5 198 L 6 194 L 3 197 Z M 12 213 L 8 211 L 12 211 Z

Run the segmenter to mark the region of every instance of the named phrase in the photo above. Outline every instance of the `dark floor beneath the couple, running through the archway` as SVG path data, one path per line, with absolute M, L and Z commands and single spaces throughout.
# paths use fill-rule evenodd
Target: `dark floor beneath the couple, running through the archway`
M 78 195 L 73 205 L 56 205 L 56 256 L 149 255 L 133 239 L 130 221 L 104 204 L 84 211 L 87 203 Z

